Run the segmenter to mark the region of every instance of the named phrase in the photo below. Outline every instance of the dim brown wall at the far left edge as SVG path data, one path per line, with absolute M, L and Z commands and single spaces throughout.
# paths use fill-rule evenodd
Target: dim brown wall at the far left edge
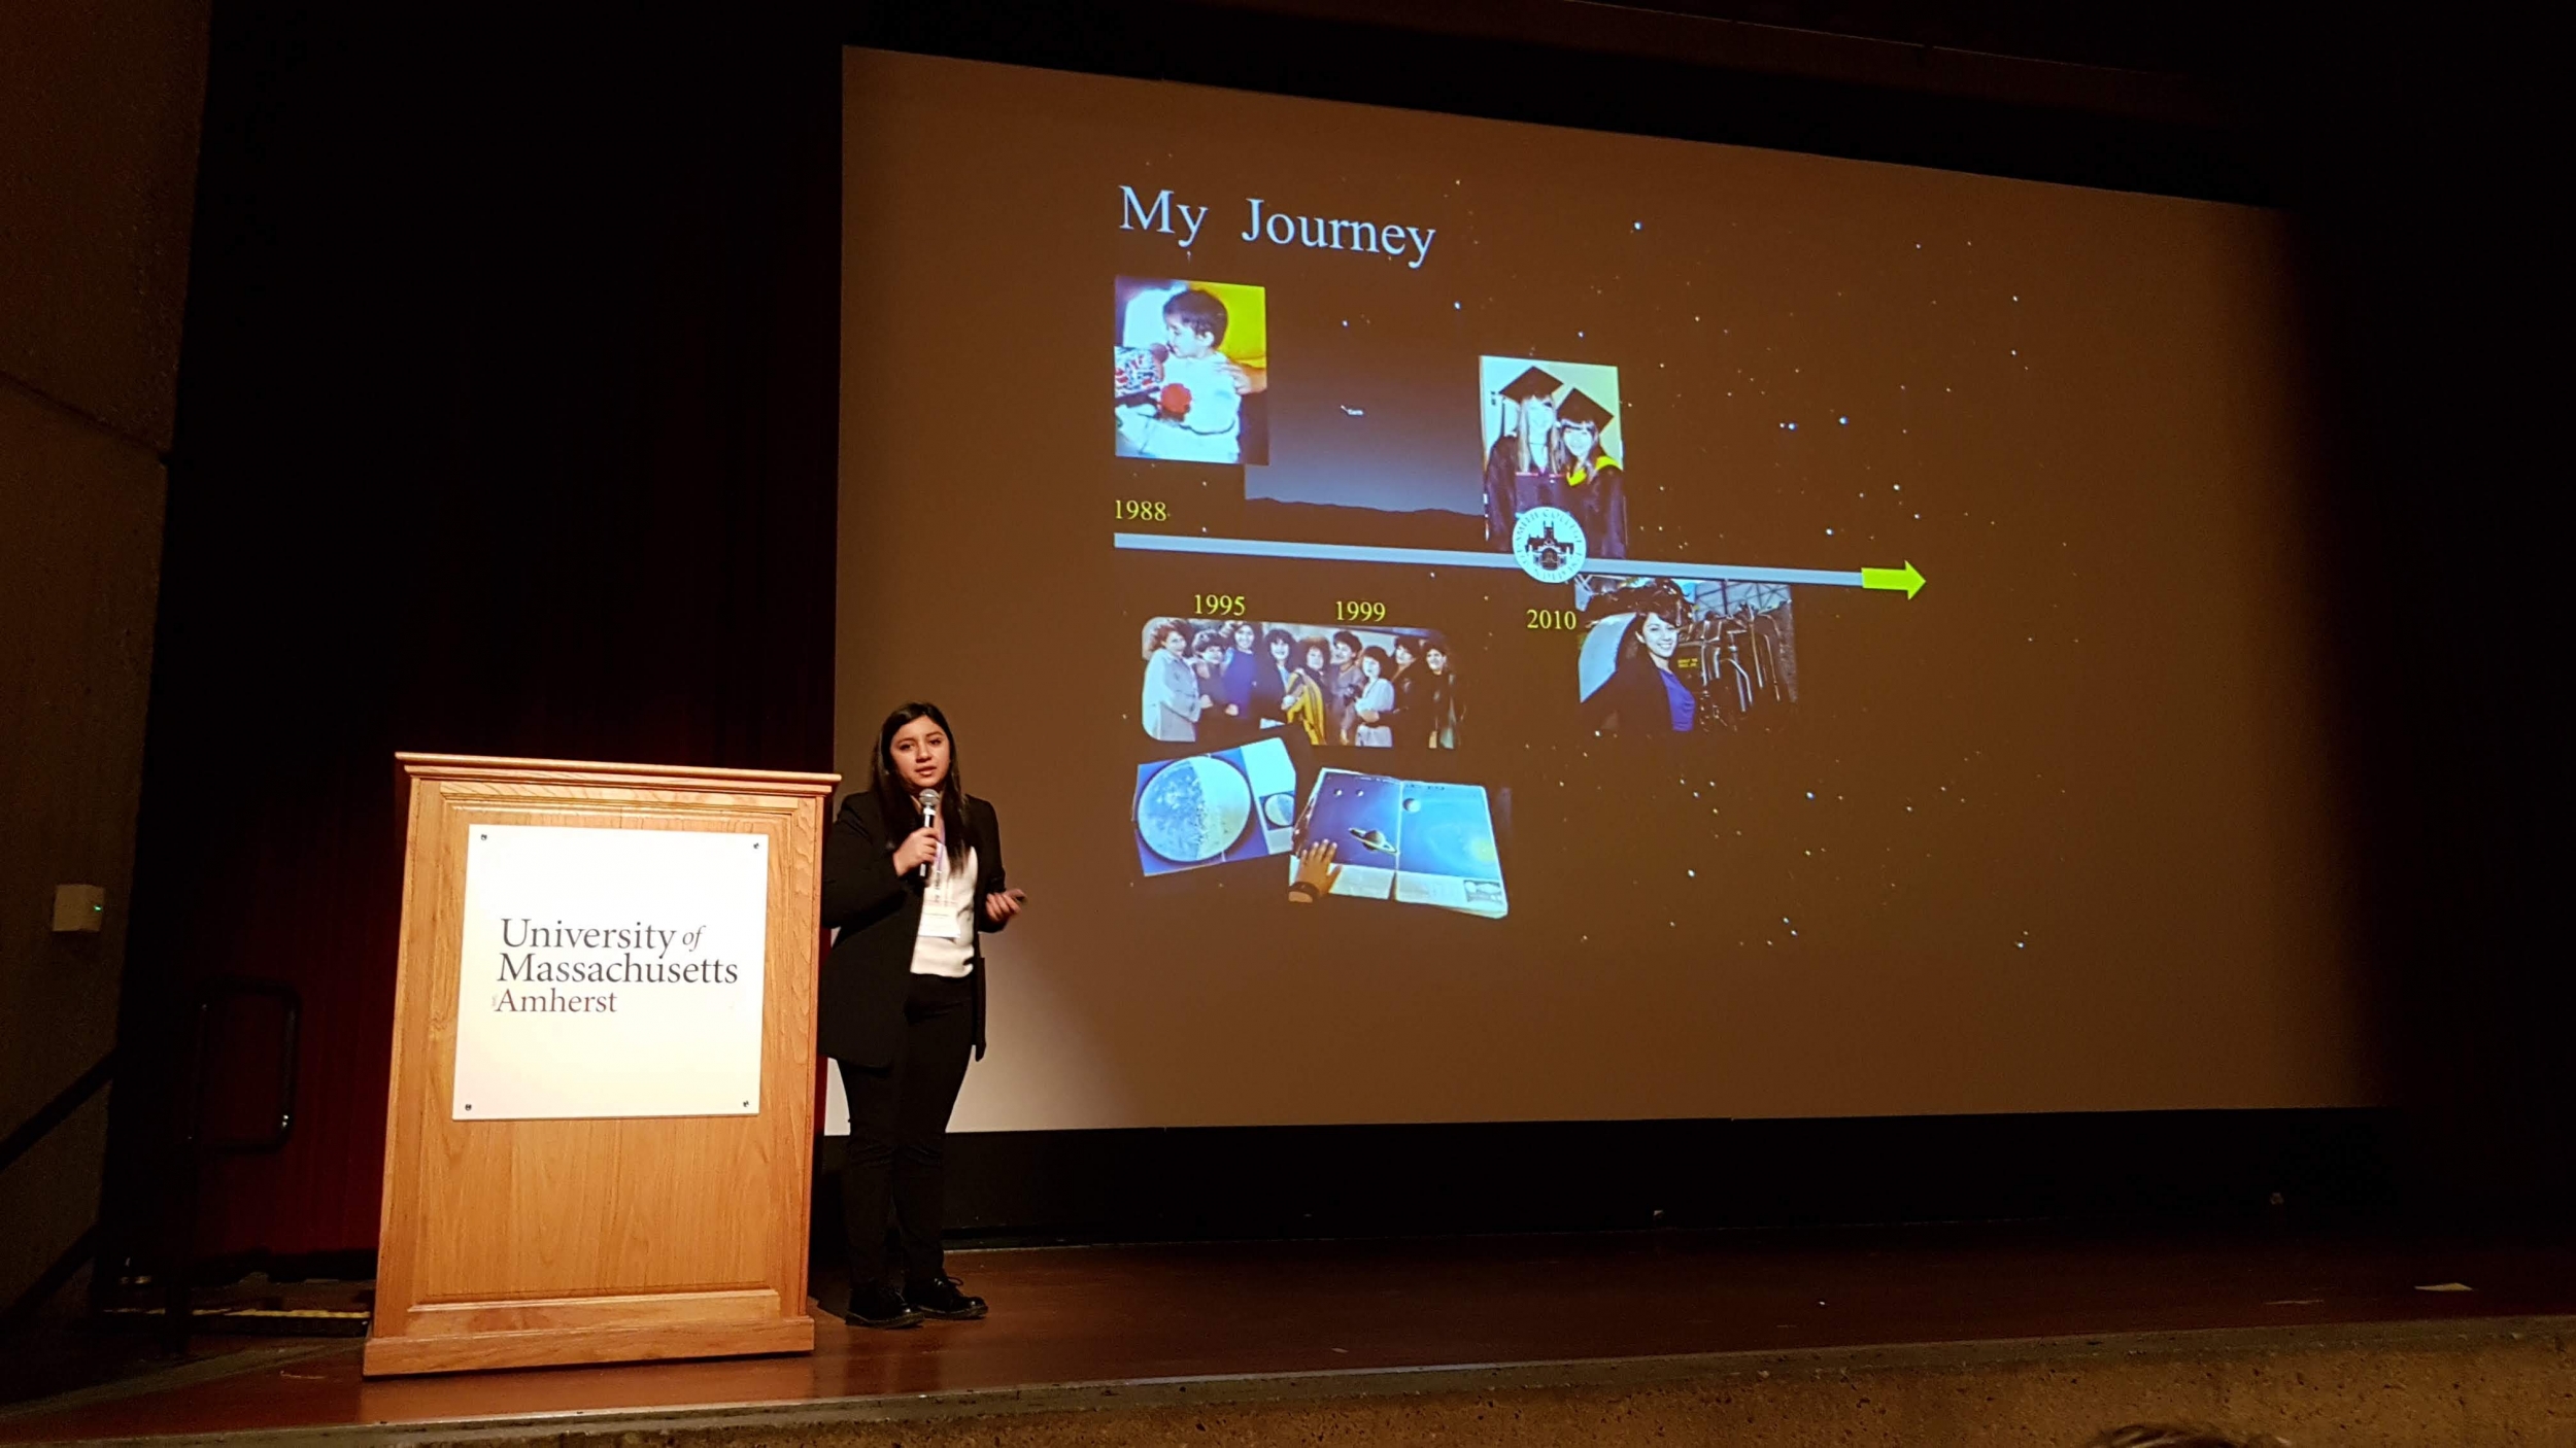
M 204 0 L 0 8 L 0 1332 L 98 1221 L 204 100 Z

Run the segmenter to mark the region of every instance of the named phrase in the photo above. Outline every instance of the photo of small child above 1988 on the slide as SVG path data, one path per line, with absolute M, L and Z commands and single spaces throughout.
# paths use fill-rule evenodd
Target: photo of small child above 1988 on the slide
M 1267 464 L 1270 317 L 1260 286 L 1121 276 L 1110 407 L 1118 456 Z

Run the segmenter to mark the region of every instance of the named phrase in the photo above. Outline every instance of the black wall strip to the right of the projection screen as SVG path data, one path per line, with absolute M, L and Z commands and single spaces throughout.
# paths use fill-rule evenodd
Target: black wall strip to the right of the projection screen
M 2262 36 L 2257 31 L 2257 36 Z M 2277 31 L 2228 82 L 2308 237 L 2316 500 L 2344 660 L 2339 739 L 2354 928 L 2385 1015 L 2414 1201 L 2548 1216 L 2576 1203 L 2576 1013 L 2558 920 L 2568 850 L 2558 446 L 2563 260 L 2543 106 L 2563 90 L 2514 21 L 2396 10 Z

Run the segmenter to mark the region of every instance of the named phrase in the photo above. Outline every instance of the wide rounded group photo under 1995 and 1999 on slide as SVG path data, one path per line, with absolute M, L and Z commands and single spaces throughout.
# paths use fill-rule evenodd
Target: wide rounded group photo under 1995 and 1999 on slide
M 1427 629 L 1154 618 L 1141 647 L 1154 739 L 1224 747 L 1298 729 L 1319 747 L 1458 747 L 1458 654 Z

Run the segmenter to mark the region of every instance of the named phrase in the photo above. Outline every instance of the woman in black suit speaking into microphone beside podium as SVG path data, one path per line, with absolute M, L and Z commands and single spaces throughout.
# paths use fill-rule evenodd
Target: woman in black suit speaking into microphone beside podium
M 1002 876 L 1002 824 L 958 783 L 956 757 L 935 703 L 889 714 L 868 788 L 840 801 L 822 848 L 822 922 L 840 930 L 822 969 L 822 1049 L 850 1095 L 842 1317 L 860 1327 L 984 1317 L 940 1260 L 940 1162 L 966 1059 L 984 1054 L 981 933 L 1010 925 L 1023 897 Z

